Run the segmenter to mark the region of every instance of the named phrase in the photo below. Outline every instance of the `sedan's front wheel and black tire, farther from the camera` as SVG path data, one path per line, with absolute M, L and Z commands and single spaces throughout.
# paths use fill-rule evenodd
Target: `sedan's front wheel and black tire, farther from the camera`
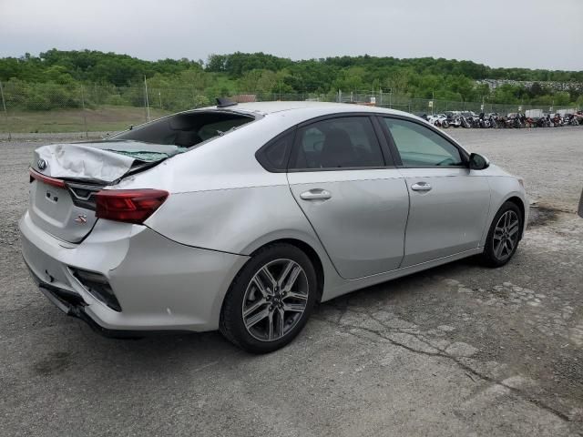
M 517 251 L 523 229 L 522 212 L 513 202 L 506 202 L 492 220 L 482 260 L 488 267 L 504 266 Z M 502 246 L 502 247 L 501 247 Z

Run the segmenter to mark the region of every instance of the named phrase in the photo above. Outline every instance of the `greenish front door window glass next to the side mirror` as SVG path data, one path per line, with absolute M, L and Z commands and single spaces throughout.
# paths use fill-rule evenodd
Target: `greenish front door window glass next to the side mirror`
M 384 118 L 405 167 L 463 166 L 459 150 L 444 137 L 412 121 Z

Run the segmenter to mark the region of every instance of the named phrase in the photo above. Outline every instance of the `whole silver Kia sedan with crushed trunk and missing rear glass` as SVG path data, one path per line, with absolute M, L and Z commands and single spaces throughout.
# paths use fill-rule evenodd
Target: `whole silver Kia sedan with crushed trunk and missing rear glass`
M 233 104 L 36 149 L 26 264 L 106 335 L 217 330 L 268 352 L 316 302 L 440 264 L 512 258 L 522 179 L 379 107 Z

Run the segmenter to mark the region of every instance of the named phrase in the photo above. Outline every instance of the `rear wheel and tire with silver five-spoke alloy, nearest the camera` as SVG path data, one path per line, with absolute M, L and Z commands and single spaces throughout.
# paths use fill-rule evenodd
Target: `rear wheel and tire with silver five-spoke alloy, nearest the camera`
M 316 295 L 316 272 L 308 256 L 291 244 L 268 245 L 230 284 L 220 311 L 220 332 L 244 351 L 277 351 L 305 326 Z

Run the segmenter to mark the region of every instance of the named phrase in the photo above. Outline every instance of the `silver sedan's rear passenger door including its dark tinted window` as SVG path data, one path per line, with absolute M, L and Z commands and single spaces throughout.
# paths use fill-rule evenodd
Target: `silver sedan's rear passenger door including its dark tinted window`
M 330 117 L 298 128 L 288 180 L 292 194 L 346 279 L 397 269 L 409 198 L 367 116 Z

